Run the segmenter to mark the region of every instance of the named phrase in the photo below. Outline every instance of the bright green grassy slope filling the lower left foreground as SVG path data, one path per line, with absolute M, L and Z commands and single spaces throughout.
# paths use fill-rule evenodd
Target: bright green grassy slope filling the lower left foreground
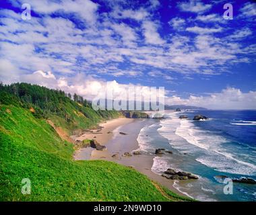
M 167 201 L 145 175 L 107 161 L 73 161 L 44 119 L 0 105 L 0 201 Z M 31 181 L 23 195 L 22 179 Z M 173 200 L 189 200 L 167 191 Z

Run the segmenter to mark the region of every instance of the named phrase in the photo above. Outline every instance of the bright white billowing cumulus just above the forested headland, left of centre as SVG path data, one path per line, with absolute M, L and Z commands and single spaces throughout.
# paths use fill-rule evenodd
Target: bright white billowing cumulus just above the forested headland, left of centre
M 132 73 L 132 71 L 131 71 Z M 143 97 L 137 97 L 139 101 L 150 101 L 150 95 L 155 95 L 154 91 L 148 86 L 134 84 L 120 84 L 117 81 L 104 81 L 86 76 L 84 73 L 78 73 L 74 77 L 55 77 L 51 71 L 35 71 L 29 75 L 22 75 L 20 81 L 34 83 L 49 87 L 51 89 L 61 89 L 67 93 L 77 93 L 86 99 L 93 100 L 95 98 L 105 98 L 106 92 L 113 92 L 113 99 L 125 99 L 125 95 L 129 89 L 134 89 L 141 93 Z M 134 92 L 133 91 L 133 92 Z M 160 91 L 157 97 L 164 97 L 164 93 Z

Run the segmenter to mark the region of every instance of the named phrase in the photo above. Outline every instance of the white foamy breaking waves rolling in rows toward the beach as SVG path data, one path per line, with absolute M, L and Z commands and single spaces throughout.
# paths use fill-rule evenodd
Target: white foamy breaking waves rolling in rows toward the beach
M 181 150 L 183 153 L 185 151 L 199 153 L 199 156 L 195 157 L 196 161 L 218 171 L 241 175 L 255 175 L 255 165 L 242 161 L 236 155 L 233 155 L 234 152 L 227 151 L 225 144 L 228 144 L 228 140 L 226 138 L 218 135 L 216 132 L 202 130 L 195 126 L 191 120 L 179 119 L 177 113 L 169 114 L 169 116 L 170 118 L 161 121 L 162 127 L 158 128 L 158 132 L 165 138 L 168 138 L 174 148 Z M 214 121 L 212 122 L 214 123 Z M 248 123 L 249 121 L 243 122 Z M 254 121 L 251 122 L 253 123 Z M 172 134 L 172 130 L 175 130 L 174 134 L 195 147 L 187 146 Z

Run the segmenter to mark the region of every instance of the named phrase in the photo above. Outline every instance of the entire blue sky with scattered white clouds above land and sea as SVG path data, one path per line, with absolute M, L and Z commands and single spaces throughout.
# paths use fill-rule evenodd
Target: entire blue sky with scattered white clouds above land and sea
M 21 17 L 22 3 L 32 19 Z M 166 103 L 256 109 L 253 1 L 2 0 L 0 79 L 92 98 L 165 87 Z

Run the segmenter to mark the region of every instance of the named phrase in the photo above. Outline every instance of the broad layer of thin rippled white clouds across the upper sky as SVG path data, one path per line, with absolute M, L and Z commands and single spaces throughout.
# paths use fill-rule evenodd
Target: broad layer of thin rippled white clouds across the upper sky
M 61 6 L 56 5 L 57 1 L 31 2 L 35 4 L 37 11 L 49 4 L 53 4 L 54 7 L 48 8 L 49 11 L 46 9 L 45 12 L 41 12 L 40 17 L 32 17 L 28 21 L 22 20 L 20 13 L 1 9 L 0 58 L 9 62 L 5 63 L 5 73 L 13 74 L 11 76 L 13 81 L 18 79 L 19 74 L 39 70 L 61 75 L 86 73 L 99 77 L 109 75 L 114 78 L 142 76 L 148 71 L 158 71 L 158 69 L 166 71 L 166 76 L 156 78 L 170 81 L 172 72 L 186 75 L 195 73 L 214 75 L 218 71 L 220 74 L 230 64 L 251 62 L 252 59 L 247 55 L 255 53 L 255 44 L 248 45 L 238 41 L 252 32 L 249 26 L 239 32 L 230 29 L 228 33 L 235 32 L 234 37 L 236 37 L 230 39 L 228 36 L 223 37 L 223 34 L 213 36 L 213 33 L 220 30 L 224 32 L 229 27 L 201 28 L 203 23 L 200 23 L 201 27 L 187 28 L 190 32 L 198 34 L 191 35 L 181 31 L 185 30 L 187 24 L 199 19 L 177 17 L 170 21 L 174 29 L 170 34 L 166 34 L 158 16 L 153 17 L 150 2 L 146 7 L 134 9 L 134 7 L 121 6 L 124 3 L 122 0 L 109 1 L 113 4 L 113 7 L 109 7 L 112 11 L 100 13 L 92 10 L 96 22 L 93 26 L 82 25 L 83 28 L 77 27 L 80 22 L 73 23 L 67 17 L 51 17 L 53 11 L 58 11 L 67 3 L 73 4 L 70 9 L 70 13 L 73 13 L 72 11 L 77 10 L 78 1 L 60 1 Z M 14 3 L 20 7 L 20 1 L 13 1 Z M 42 8 L 38 8 L 40 4 L 44 4 Z M 132 3 L 128 5 L 131 6 Z M 195 5 L 205 7 L 200 2 Z M 68 10 L 67 8 L 67 13 Z M 79 11 L 82 10 L 81 7 Z M 75 14 L 75 18 L 79 11 Z M 62 11 L 62 13 L 66 12 Z M 100 16 L 96 19 L 98 12 Z M 197 15 L 197 17 L 201 20 L 214 19 L 213 15 Z M 79 21 L 84 24 L 86 19 Z M 161 33 L 164 33 L 164 37 L 160 35 L 160 30 L 163 30 Z M 124 64 L 125 70 L 121 70 Z M 1 77 L 4 77 L 3 81 L 7 78 L 11 79 L 2 74 Z M 139 81 L 147 79 L 145 75 Z M 152 80 L 152 77 L 149 79 Z

